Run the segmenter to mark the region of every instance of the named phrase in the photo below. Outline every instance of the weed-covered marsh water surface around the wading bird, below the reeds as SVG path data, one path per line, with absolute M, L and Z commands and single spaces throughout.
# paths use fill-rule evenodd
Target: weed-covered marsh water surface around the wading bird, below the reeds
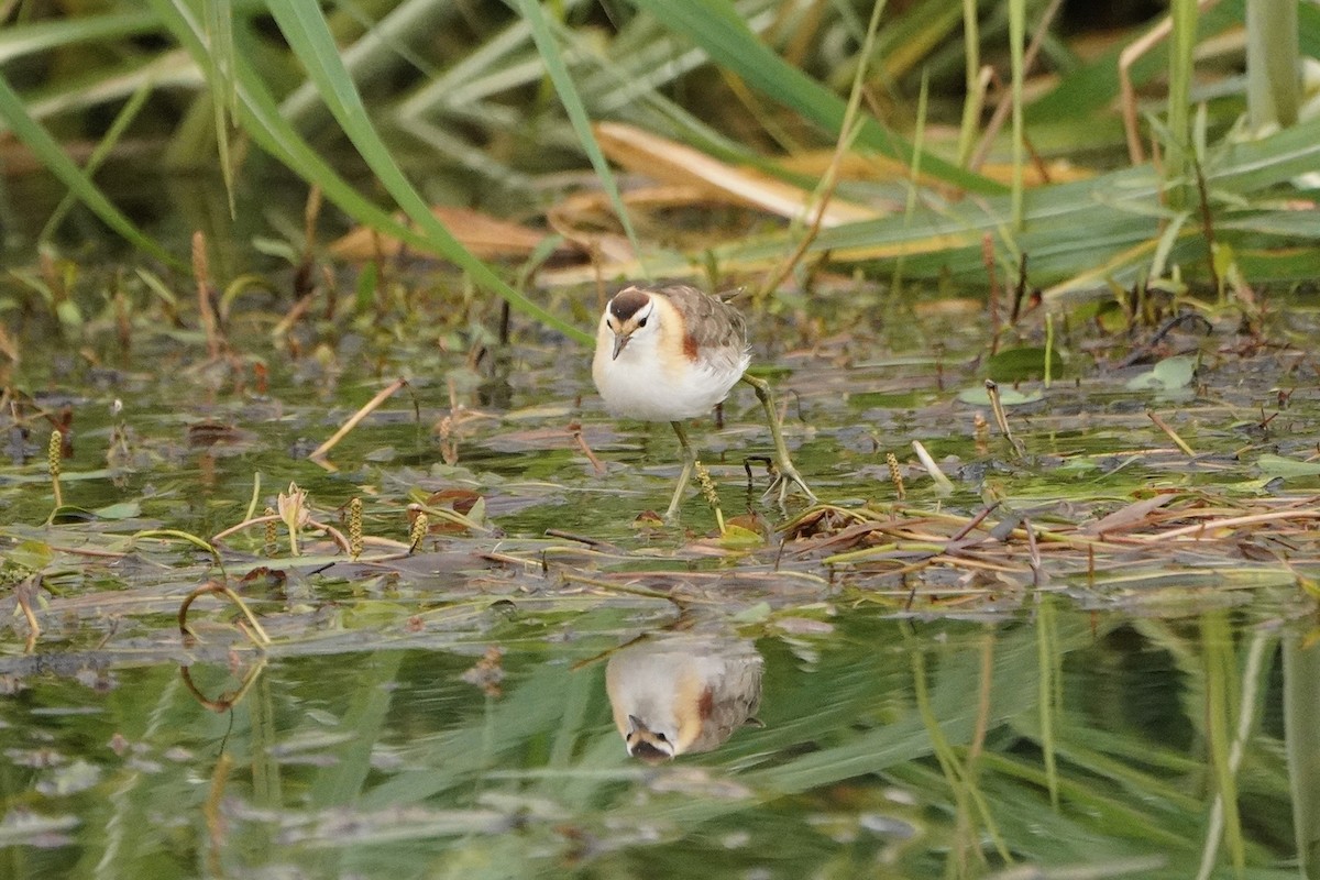
M 762 497 L 739 389 L 692 429 L 721 533 L 696 489 L 644 516 L 673 435 L 609 418 L 582 348 L 500 344 L 425 264 L 366 297 L 335 267 L 338 310 L 279 329 L 292 269 L 246 259 L 222 358 L 132 268 L 12 329 L 4 877 L 1316 876 L 1305 294 L 1255 330 L 1074 313 L 1048 387 L 1039 314 L 995 360 L 974 292 L 784 294 L 755 360 L 824 504 Z M 594 289 L 543 293 L 594 325 Z M 215 537 L 297 491 L 297 550 Z M 352 499 L 356 558 L 322 528 Z M 207 592 L 181 632 L 207 583 L 251 617 Z M 709 730 L 630 756 L 669 701 Z

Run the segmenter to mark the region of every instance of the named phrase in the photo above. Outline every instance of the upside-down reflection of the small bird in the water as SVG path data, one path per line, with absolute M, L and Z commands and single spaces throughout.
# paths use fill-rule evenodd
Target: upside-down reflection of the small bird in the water
M 759 724 L 764 661 L 748 639 L 651 633 L 610 656 L 605 686 L 628 755 L 647 763 L 709 752 Z

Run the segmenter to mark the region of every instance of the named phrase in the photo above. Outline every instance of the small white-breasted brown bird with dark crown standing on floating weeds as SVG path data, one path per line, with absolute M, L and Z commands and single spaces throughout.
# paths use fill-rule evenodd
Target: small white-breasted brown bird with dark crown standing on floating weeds
M 775 443 L 775 479 L 783 504 L 789 489 L 809 501 L 816 493 L 788 455 L 770 385 L 747 375 L 751 344 L 747 322 L 727 302 L 686 284 L 628 285 L 615 293 L 601 315 L 591 379 L 611 414 L 647 422 L 669 422 L 682 447 L 682 470 L 665 520 L 675 520 L 692 479 L 697 454 L 684 422 L 705 416 L 744 381 L 756 392 Z

